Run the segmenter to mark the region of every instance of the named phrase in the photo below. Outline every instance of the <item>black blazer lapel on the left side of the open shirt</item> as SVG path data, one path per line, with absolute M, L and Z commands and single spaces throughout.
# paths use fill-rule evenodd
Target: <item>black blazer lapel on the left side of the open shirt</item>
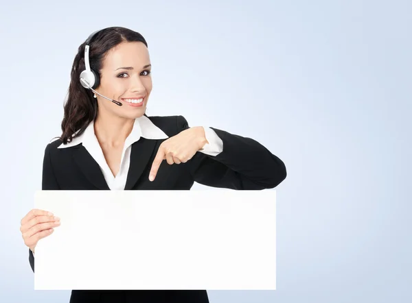
M 80 171 L 86 176 L 87 180 L 94 186 L 98 189 L 109 189 L 98 162 L 93 159 L 83 145 L 73 147 L 73 160 L 78 165 Z

